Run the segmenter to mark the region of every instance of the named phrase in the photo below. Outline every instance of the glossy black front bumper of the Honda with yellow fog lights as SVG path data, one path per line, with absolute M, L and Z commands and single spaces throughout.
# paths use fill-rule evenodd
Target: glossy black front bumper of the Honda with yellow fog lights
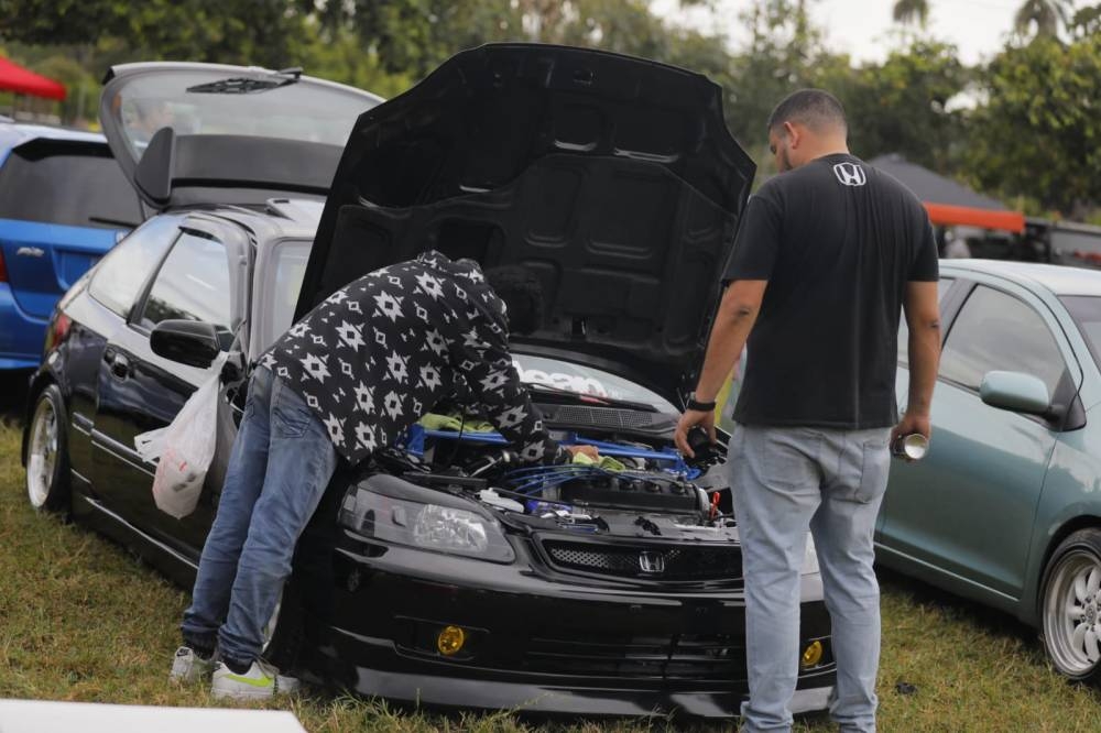
M 346 535 L 324 572 L 296 573 L 309 578 L 304 677 L 426 705 L 737 714 L 748 692 L 740 590 L 581 584 L 527 559 L 503 566 Z M 820 639 L 826 654 L 800 674 L 794 712 L 825 708 L 835 680 L 816 577 L 804 579 L 802 619 L 804 644 Z M 446 626 L 468 639 L 453 656 L 436 646 Z

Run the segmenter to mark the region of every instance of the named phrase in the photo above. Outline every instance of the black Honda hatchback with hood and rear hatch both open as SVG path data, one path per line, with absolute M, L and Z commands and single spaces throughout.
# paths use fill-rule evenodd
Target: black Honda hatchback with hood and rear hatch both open
M 238 69 L 183 96 L 262 100 L 305 83 Z M 105 129 L 137 149 L 111 122 L 126 89 L 120 74 L 105 90 Z M 288 194 L 317 194 L 336 162 L 325 142 L 152 135 L 128 173 L 162 212 L 51 324 L 24 437 L 31 502 L 72 508 L 189 583 L 220 475 L 173 519 L 132 440 L 172 419 L 219 351 L 224 453 L 236 387 L 294 315 L 426 249 L 522 263 L 547 317 L 514 339 L 516 368 L 557 438 L 620 464 L 526 467 L 477 416 L 436 406 L 400 447 L 338 472 L 268 654 L 318 685 L 427 704 L 737 714 L 745 645 L 727 471 L 672 447 L 754 173 L 718 87 L 601 52 L 499 45 L 362 109 L 324 210 Z M 287 161 L 317 166 L 315 183 L 295 183 Z M 835 675 L 814 557 L 796 710 L 824 708 Z

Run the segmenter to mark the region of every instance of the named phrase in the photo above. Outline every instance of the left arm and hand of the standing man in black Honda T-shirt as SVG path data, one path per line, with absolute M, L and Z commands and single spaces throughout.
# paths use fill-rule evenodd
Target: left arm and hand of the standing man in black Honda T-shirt
M 741 357 L 742 349 L 745 348 L 745 340 L 753 324 L 756 322 L 767 286 L 766 280 L 735 280 L 722 294 L 719 311 L 711 326 L 704 369 L 696 385 L 696 400 L 699 402 L 712 402 L 719 394 L 723 380 L 730 374 L 738 358 Z M 696 425 L 702 425 L 713 442 L 715 411 L 689 409 L 680 416 L 674 440 L 680 452 L 690 457 L 695 457 L 696 453 L 688 446 L 688 430 Z

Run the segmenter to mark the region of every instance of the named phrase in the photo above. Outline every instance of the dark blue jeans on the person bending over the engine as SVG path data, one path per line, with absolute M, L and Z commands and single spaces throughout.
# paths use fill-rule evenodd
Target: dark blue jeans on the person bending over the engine
M 218 514 L 207 535 L 184 643 L 237 664 L 260 656 L 298 536 L 337 466 L 328 430 L 265 368 L 249 383 Z

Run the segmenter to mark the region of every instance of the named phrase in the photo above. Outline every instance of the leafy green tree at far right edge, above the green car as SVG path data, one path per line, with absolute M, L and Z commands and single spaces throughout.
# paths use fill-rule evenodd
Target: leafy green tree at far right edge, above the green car
M 982 75 L 966 169 L 1006 197 L 1076 217 L 1101 204 L 1101 34 L 1009 46 Z

